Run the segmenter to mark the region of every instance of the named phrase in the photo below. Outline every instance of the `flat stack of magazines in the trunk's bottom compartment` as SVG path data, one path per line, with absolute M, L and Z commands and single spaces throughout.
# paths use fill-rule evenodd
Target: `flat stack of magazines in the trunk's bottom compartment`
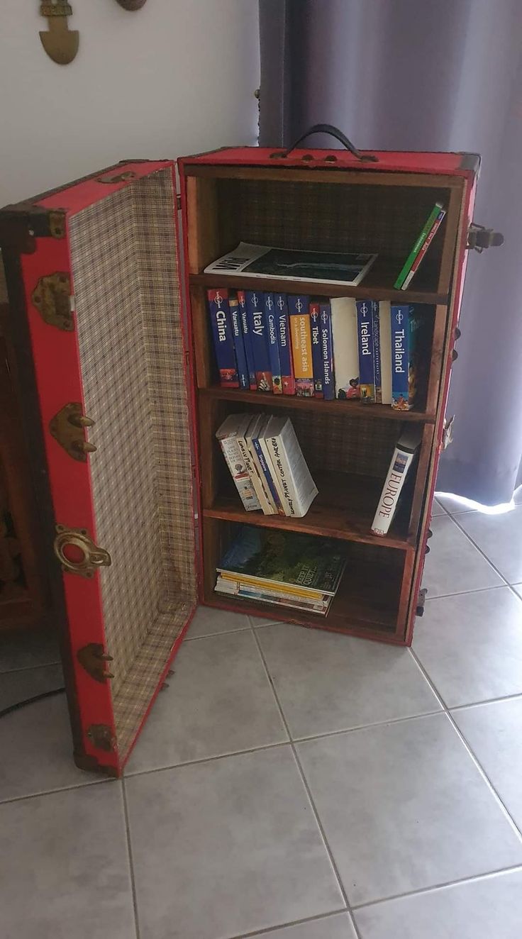
M 217 593 L 326 616 L 345 570 L 339 542 L 242 525 L 217 567 Z

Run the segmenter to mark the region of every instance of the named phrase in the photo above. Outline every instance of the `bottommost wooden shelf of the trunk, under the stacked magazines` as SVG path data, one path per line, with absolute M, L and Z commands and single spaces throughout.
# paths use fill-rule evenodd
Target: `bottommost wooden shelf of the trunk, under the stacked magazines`
M 252 513 L 251 513 L 252 515 Z M 400 564 L 348 558 L 345 574 L 327 616 L 305 610 L 278 607 L 276 604 L 224 596 L 211 591 L 205 602 L 212 607 L 253 613 L 277 621 L 315 626 L 343 633 L 356 633 L 366 639 L 402 642 L 397 635 L 397 612 L 400 593 Z

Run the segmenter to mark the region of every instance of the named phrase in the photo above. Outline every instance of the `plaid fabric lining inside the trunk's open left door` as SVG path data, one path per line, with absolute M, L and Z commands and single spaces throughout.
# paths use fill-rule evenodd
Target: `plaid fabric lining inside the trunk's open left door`
M 192 469 L 170 171 L 70 220 L 117 745 L 131 744 L 195 602 Z

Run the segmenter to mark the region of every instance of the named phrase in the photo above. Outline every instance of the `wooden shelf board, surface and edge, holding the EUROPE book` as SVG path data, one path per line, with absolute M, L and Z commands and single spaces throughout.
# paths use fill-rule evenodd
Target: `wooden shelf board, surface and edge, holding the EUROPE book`
M 303 518 L 265 516 L 262 512 L 245 512 L 238 494 L 219 495 L 211 508 L 203 509 L 206 518 L 256 525 L 261 528 L 302 531 L 343 541 L 393 547 L 406 551 L 413 544 L 407 536 L 407 518 L 398 515 L 392 531 L 384 538 L 370 531 L 382 482 L 356 473 L 324 472 L 315 474 L 319 493 Z

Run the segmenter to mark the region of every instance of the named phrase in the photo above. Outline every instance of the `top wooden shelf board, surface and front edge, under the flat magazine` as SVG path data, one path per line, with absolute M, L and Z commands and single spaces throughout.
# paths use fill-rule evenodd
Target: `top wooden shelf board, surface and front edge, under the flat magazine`
M 362 284 L 322 284 L 320 281 L 288 281 L 273 277 L 230 276 L 226 274 L 191 274 L 191 285 L 221 286 L 245 290 L 281 290 L 284 293 L 311 294 L 315 297 L 355 297 L 359 300 L 394 300 L 401 303 L 448 302 L 448 295 L 438 291 L 438 270 L 428 262 L 419 269 L 413 290 L 394 290 L 393 283 L 402 268 L 404 258 L 379 255 L 366 274 Z

